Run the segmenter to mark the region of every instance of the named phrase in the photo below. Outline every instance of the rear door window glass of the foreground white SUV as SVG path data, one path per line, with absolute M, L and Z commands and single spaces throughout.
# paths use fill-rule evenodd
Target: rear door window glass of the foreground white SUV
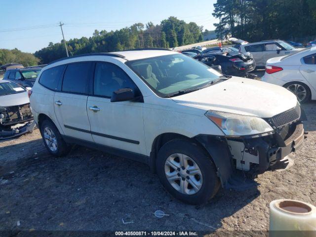
M 90 62 L 68 64 L 62 85 L 62 91 L 86 94 L 91 75 Z

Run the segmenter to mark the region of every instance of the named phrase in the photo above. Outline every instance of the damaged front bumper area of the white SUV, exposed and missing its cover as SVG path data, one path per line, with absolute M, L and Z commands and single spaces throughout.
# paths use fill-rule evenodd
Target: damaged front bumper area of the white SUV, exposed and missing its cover
M 197 141 L 212 157 L 223 188 L 245 190 L 253 187 L 258 174 L 296 151 L 304 141 L 302 122 L 295 122 L 283 131 L 256 138 L 228 138 L 198 135 Z

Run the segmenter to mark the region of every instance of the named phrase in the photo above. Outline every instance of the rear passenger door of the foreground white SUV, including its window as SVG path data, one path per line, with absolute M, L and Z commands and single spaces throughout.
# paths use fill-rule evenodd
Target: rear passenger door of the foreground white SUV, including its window
M 55 114 L 65 135 L 91 142 L 86 104 L 92 65 L 91 62 L 68 64 L 61 91 L 56 91 L 54 95 Z

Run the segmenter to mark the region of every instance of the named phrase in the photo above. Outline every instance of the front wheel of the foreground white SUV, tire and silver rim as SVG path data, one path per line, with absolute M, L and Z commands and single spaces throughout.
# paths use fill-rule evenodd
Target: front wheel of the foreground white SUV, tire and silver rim
M 184 161 L 181 163 L 181 160 Z M 211 158 L 196 143 L 189 140 L 175 139 L 164 144 L 158 151 L 156 169 L 166 191 L 188 204 L 207 202 L 215 196 L 220 187 Z M 167 179 L 167 175 L 172 181 Z

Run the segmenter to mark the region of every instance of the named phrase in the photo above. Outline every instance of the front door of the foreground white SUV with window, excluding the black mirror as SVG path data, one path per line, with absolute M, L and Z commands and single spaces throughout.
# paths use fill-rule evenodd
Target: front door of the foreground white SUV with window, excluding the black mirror
M 131 88 L 141 95 L 132 79 L 117 65 L 96 62 L 93 95 L 88 97 L 87 112 L 93 140 L 105 146 L 146 155 L 143 102 L 111 102 L 112 93 Z

